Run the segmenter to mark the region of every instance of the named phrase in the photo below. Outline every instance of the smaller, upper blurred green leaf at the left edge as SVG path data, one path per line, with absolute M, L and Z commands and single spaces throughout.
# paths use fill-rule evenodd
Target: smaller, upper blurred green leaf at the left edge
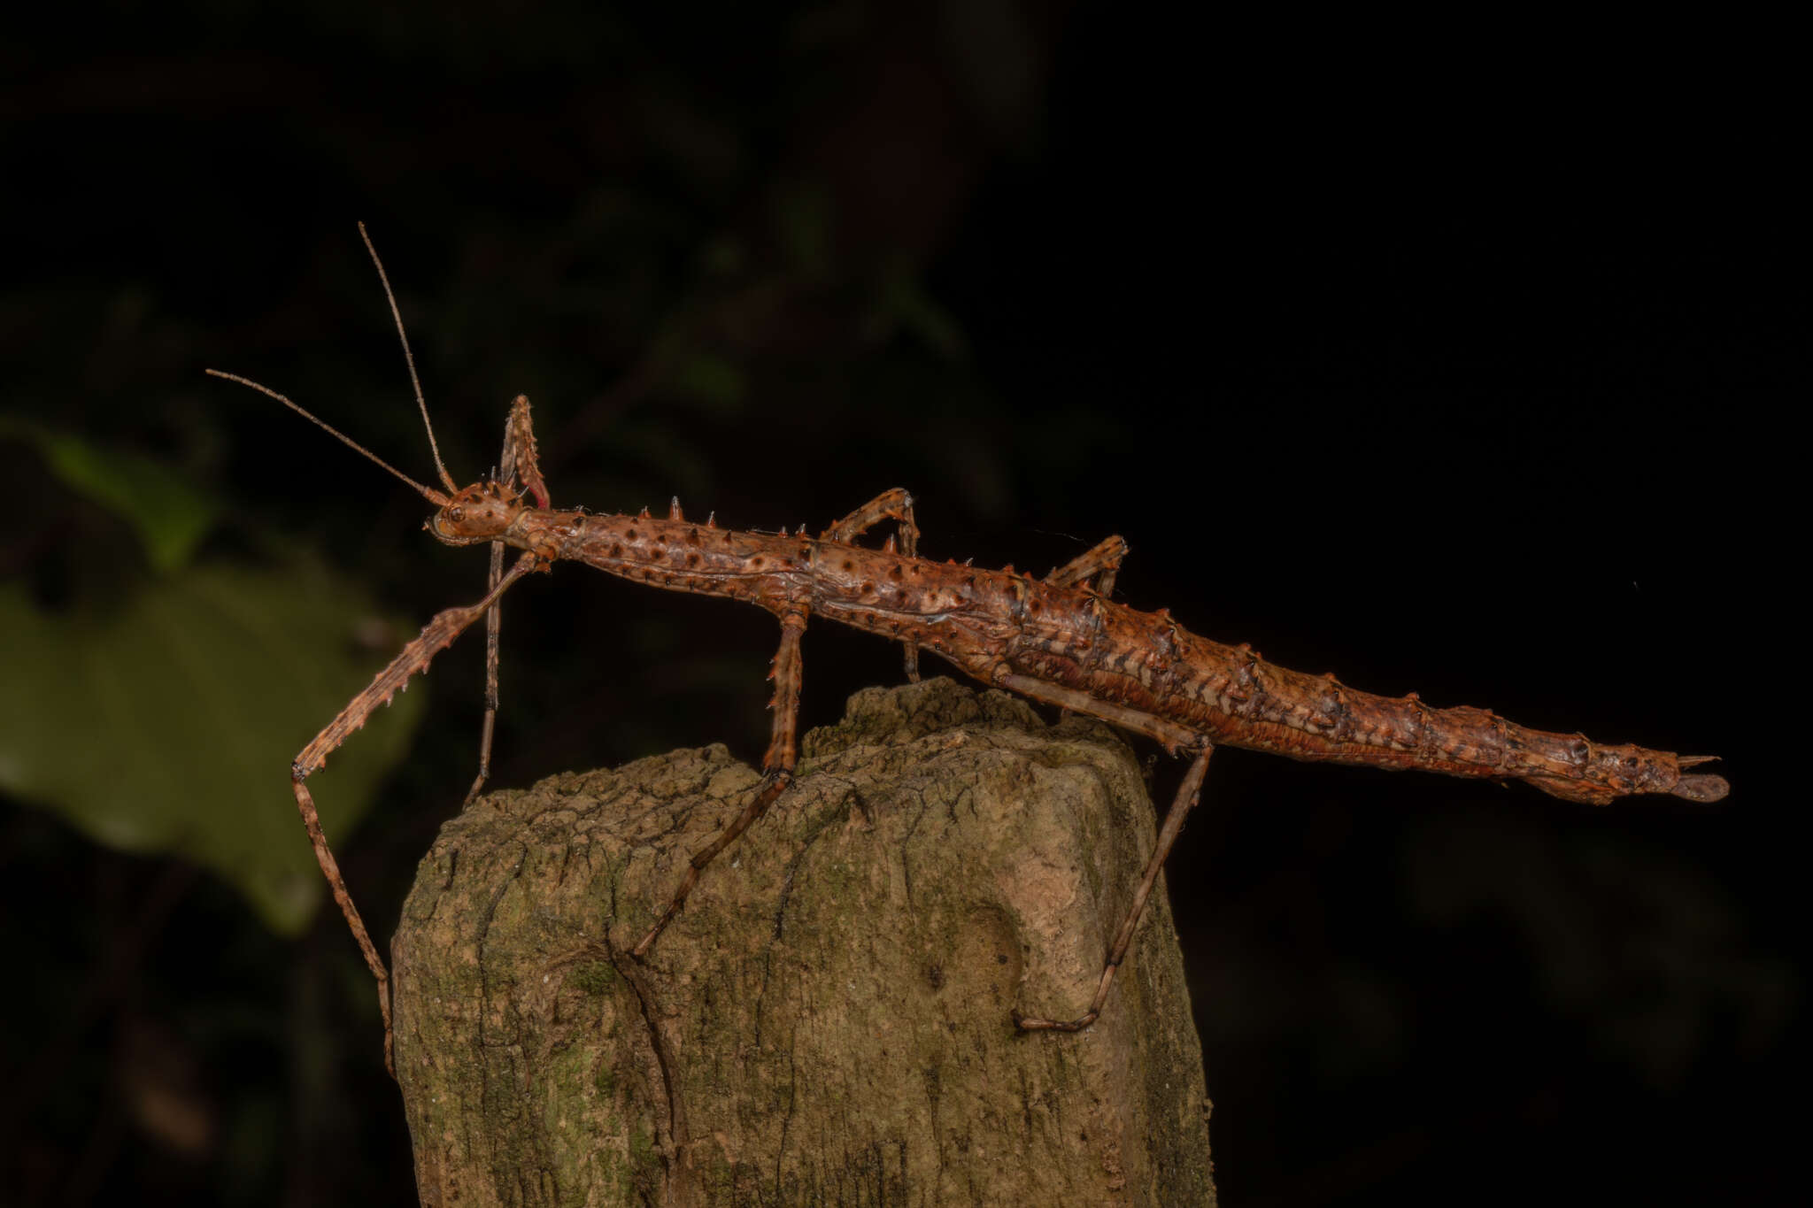
M 207 493 L 140 453 L 107 449 L 13 417 L 0 417 L 0 436 L 36 446 L 63 485 L 123 516 L 158 570 L 185 565 L 219 514 Z

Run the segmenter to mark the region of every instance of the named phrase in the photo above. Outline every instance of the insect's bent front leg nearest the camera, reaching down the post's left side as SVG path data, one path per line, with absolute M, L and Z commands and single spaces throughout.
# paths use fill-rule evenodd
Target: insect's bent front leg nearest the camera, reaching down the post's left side
M 303 784 L 310 775 L 319 772 L 328 755 L 348 737 L 354 730 L 364 726 L 366 717 L 370 717 L 381 705 L 390 705 L 390 699 L 401 692 L 410 676 L 415 672 L 426 672 L 428 661 L 435 657 L 441 650 L 446 650 L 461 630 L 479 619 L 497 598 L 502 596 L 511 583 L 520 580 L 529 570 L 535 570 L 538 560 L 535 554 L 524 554 L 517 560 L 517 565 L 509 569 L 497 585 L 486 592 L 484 599 L 466 609 L 448 609 L 428 621 L 422 628 L 422 636 L 402 648 L 402 654 L 390 661 L 390 666 L 377 674 L 364 692 L 355 695 L 346 708 L 341 710 L 339 717 L 328 723 L 326 730 L 315 735 L 315 739 L 301 750 L 296 762 L 290 764 L 290 788 L 296 791 L 296 808 L 303 815 L 303 829 L 308 831 L 308 842 L 315 849 L 315 862 L 321 866 L 321 875 L 328 878 L 328 887 L 334 891 L 334 902 L 339 904 L 341 915 L 346 916 L 346 925 L 352 929 L 352 938 L 359 942 L 359 951 L 364 953 L 364 964 L 372 969 L 372 976 L 377 978 L 377 1007 L 384 1016 L 384 1069 L 392 1074 L 397 1072 L 392 1061 L 390 1045 L 390 973 L 384 969 L 383 958 L 377 954 L 377 945 L 372 944 L 370 933 L 364 929 L 364 920 L 359 918 L 359 907 L 354 906 L 352 895 L 346 891 L 346 880 L 341 877 L 339 864 L 334 860 L 334 851 L 328 848 L 328 839 L 321 831 L 321 815 L 315 813 L 315 801 L 308 795 L 308 786 Z M 486 724 L 486 733 L 490 733 L 490 724 Z

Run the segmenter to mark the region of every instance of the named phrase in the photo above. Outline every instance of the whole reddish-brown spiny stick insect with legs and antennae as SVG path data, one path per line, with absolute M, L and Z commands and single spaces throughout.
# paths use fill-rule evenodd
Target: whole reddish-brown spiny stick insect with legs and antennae
M 435 505 L 437 511 L 424 527 L 439 542 L 491 547 L 484 596 L 437 614 L 421 638 L 404 647 L 290 766 L 290 788 L 315 860 L 377 980 L 384 1063 L 392 1072 L 390 974 L 321 833 L 306 781 L 377 706 L 386 705 L 413 674 L 426 672 L 435 654 L 484 618 L 484 728 L 479 739 L 479 775 L 466 802 L 477 797 L 490 777 L 497 724 L 497 601 L 519 580 L 548 570 L 562 558 L 651 587 L 742 599 L 771 612 L 781 630 L 771 672 L 774 723 L 761 761 L 761 784 L 736 819 L 693 853 L 665 909 L 631 949 L 636 958 L 644 958 L 674 920 L 705 868 L 760 820 L 792 782 L 798 759 L 800 638 L 814 616 L 899 641 L 910 679 L 919 677 L 917 656 L 928 650 L 990 686 L 1144 733 L 1157 739 L 1168 753 L 1189 759 L 1133 904 L 1108 945 L 1090 1005 L 1073 1018 L 1015 1011 L 1013 1021 L 1024 1031 L 1075 1032 L 1097 1020 L 1164 858 L 1184 817 L 1198 801 L 1217 744 L 1304 761 L 1519 779 L 1554 797 L 1588 804 L 1634 793 L 1670 793 L 1710 802 L 1728 791 L 1724 779 L 1688 772 L 1713 759 L 1711 755 L 1675 755 L 1594 743 L 1579 733 L 1530 730 L 1488 710 L 1432 708 L 1416 694 L 1372 695 L 1342 685 L 1334 676 L 1305 676 L 1267 663 L 1246 643 L 1227 647 L 1198 638 L 1162 609 L 1137 612 L 1113 603 L 1110 594 L 1115 574 L 1128 552 L 1119 536 L 1100 542 L 1042 580 L 1033 580 L 1012 567 L 984 570 L 919 558 L 914 500 L 903 489 L 877 494 L 816 538 L 807 536 L 805 529 L 789 536 L 785 531 L 736 532 L 720 529 L 714 520 L 694 523 L 682 514 L 678 500 L 662 518 L 651 516 L 647 509 L 636 516 L 557 511 L 537 462 L 529 400 L 522 395 L 509 406 L 495 476 L 461 487 L 441 462 L 415 359 L 384 266 L 363 225 L 359 234 L 390 301 L 444 491 L 415 482 L 277 391 L 234 373 L 208 373 L 276 398 L 406 482 Z M 879 549 L 856 543 L 856 538 L 885 522 L 892 522 L 896 532 Z M 522 551 L 508 570 L 506 547 Z

